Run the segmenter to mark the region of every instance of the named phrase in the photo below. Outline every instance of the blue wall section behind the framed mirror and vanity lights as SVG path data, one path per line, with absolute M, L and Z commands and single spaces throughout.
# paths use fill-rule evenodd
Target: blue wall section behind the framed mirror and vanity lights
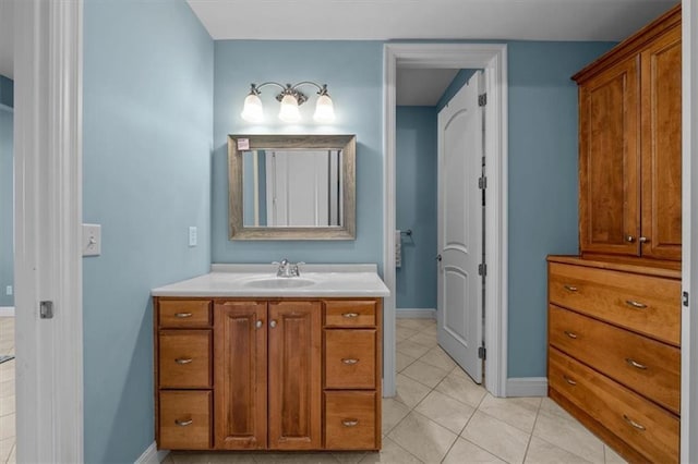
M 377 41 L 221 40 L 215 44 L 212 249 L 214 262 L 270 262 L 287 257 L 306 262 L 383 261 L 383 44 Z M 243 65 L 240 65 L 243 63 Z M 242 118 L 251 83 L 327 83 L 337 120 L 312 120 L 315 95 L 301 107 L 298 125 L 278 118 L 277 90 L 262 89 L 266 120 Z M 304 90 L 305 88 L 303 88 Z M 240 242 L 228 240 L 228 134 L 356 134 L 357 240 Z

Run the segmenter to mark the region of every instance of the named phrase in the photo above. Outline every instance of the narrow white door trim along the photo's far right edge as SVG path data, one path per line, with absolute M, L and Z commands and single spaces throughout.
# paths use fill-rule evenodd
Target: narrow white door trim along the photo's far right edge
M 695 463 L 698 462 L 698 212 L 695 210 L 698 207 L 698 162 L 691 162 L 691 154 L 698 155 L 698 0 L 684 0 L 682 14 L 682 286 L 683 291 L 689 292 L 690 305 L 682 307 L 681 323 L 681 462 Z

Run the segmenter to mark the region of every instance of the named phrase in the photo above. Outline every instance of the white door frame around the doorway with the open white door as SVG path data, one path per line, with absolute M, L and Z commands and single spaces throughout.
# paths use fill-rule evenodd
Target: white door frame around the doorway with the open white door
M 485 327 L 488 346 L 485 389 L 506 396 L 507 381 L 507 158 L 508 158 L 508 76 L 506 44 L 386 44 L 383 49 L 383 280 L 390 291 L 384 303 L 383 391 L 396 391 L 395 342 L 395 159 L 397 68 L 482 69 L 485 106 L 485 151 L 488 164 L 488 279 L 485 280 Z M 434 255 L 436 251 L 434 251 Z

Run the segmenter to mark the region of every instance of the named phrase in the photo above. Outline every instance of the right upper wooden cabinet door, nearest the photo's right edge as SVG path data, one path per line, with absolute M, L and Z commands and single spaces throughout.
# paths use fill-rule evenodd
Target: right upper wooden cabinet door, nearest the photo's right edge
M 641 60 L 642 255 L 681 260 L 681 25 Z

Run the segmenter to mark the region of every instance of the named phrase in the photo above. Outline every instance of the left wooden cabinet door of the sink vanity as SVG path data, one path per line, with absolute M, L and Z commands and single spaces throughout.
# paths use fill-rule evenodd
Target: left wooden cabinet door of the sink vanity
M 266 448 L 266 302 L 216 303 L 215 448 Z

